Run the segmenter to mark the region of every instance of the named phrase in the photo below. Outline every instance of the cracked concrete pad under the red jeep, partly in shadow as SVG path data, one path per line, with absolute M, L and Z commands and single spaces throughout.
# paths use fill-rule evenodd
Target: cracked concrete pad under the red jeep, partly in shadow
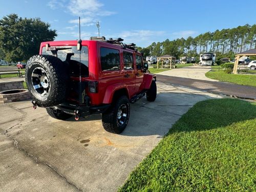
M 0 191 L 116 191 L 196 102 L 220 96 L 157 83 L 155 102 L 131 105 L 125 131 L 104 131 L 100 115 L 49 117 L 30 101 L 0 105 Z

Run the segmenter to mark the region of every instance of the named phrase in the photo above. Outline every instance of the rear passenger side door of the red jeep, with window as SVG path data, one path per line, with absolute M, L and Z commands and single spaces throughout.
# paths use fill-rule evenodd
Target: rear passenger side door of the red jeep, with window
M 133 52 L 123 51 L 124 83 L 127 85 L 130 96 L 135 94 L 135 67 Z

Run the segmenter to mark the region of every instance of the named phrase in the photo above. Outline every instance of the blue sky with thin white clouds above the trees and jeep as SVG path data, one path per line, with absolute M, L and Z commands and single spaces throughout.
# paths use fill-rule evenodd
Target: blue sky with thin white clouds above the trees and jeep
M 56 40 L 71 40 L 78 38 L 80 16 L 82 39 L 98 35 L 95 24 L 99 20 L 100 35 L 122 37 L 126 43 L 145 47 L 167 38 L 256 24 L 255 8 L 255 0 L 1 0 L 0 17 L 10 13 L 40 17 L 57 30 Z

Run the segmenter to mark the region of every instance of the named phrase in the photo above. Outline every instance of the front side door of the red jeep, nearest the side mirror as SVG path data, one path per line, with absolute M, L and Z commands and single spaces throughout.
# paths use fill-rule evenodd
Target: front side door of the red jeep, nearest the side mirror
M 136 71 L 135 71 L 135 91 L 140 92 L 140 86 L 143 82 L 143 71 L 142 71 L 142 57 L 139 54 L 135 54 Z

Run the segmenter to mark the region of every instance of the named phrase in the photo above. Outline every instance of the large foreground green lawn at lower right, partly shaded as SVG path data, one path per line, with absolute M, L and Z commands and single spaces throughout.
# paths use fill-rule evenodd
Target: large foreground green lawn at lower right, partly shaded
M 198 102 L 120 191 L 256 191 L 256 103 Z

